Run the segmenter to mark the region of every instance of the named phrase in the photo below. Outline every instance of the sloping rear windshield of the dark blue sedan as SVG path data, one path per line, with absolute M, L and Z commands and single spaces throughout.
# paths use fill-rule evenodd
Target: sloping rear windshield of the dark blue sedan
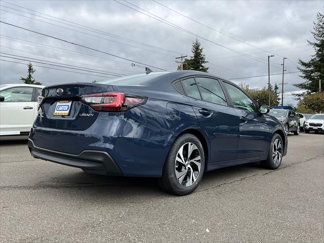
M 120 86 L 129 86 L 129 85 L 140 86 L 150 79 L 165 75 L 167 73 L 169 72 L 151 72 L 149 74 L 140 73 L 135 75 L 128 75 L 128 76 L 103 80 L 98 82 L 98 84 L 120 85 Z

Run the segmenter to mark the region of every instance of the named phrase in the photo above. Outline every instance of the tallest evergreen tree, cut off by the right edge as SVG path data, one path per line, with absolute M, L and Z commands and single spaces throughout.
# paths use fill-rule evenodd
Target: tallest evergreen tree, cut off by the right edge
M 321 80 L 321 87 L 324 86 L 324 15 L 317 13 L 316 19 L 317 23 L 314 22 L 313 31 L 311 31 L 315 41 L 307 41 L 315 49 L 315 54 L 311 56 L 308 62 L 299 59 L 299 64 L 303 67 L 298 67 L 302 72 L 300 76 L 306 82 L 294 84 L 294 86 L 304 89 L 306 92 L 295 94 L 298 99 L 310 93 L 318 92 L 319 80 Z

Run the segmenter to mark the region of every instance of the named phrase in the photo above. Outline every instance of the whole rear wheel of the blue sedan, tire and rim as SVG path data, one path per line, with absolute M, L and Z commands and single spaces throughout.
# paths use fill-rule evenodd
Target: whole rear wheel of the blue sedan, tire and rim
M 172 145 L 158 183 L 167 192 L 187 195 L 198 186 L 204 169 L 204 149 L 199 139 L 183 134 Z

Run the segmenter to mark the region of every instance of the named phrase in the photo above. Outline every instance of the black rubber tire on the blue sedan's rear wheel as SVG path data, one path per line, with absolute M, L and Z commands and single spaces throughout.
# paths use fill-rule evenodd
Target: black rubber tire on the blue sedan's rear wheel
M 190 169 L 188 169 L 189 167 L 187 168 L 187 165 L 186 165 L 184 168 L 183 164 L 176 163 L 176 158 L 178 156 L 178 153 L 180 154 L 180 149 L 184 146 L 183 151 L 184 151 L 184 153 L 186 153 L 185 146 L 187 146 L 188 143 L 189 144 L 192 143 L 196 146 L 196 149 L 194 151 L 192 151 L 192 153 L 195 152 L 197 154 L 197 152 L 199 152 L 199 155 L 200 155 L 200 170 L 198 171 L 198 174 L 196 175 L 196 180 L 195 181 L 193 180 L 194 181 L 193 183 L 192 183 L 192 179 L 189 178 L 189 176 L 187 176 L 190 174 L 190 171 L 191 171 Z M 196 156 L 196 154 L 194 156 Z M 184 158 L 185 158 L 185 155 L 184 155 Z M 188 161 L 188 159 L 189 158 L 185 158 L 186 161 Z M 184 171 L 186 171 L 184 178 L 187 178 L 186 181 L 188 182 L 188 184 L 192 183 L 190 186 L 182 185 L 180 183 L 179 179 L 177 178 L 176 170 L 178 170 L 177 168 L 179 167 L 179 165 L 182 167 L 180 173 L 183 173 Z M 192 166 L 192 164 L 189 164 L 189 165 Z M 195 165 L 193 165 L 193 166 L 195 166 Z M 192 168 L 193 168 L 193 166 L 192 166 Z M 182 170 L 182 169 L 184 169 L 184 170 Z M 201 181 L 201 178 L 203 178 L 204 170 L 205 170 L 205 156 L 204 156 L 203 146 L 201 145 L 201 143 L 197 137 L 195 137 L 194 135 L 192 135 L 190 133 L 186 133 L 186 134 L 179 136 L 174 141 L 174 143 L 169 151 L 165 165 L 163 167 L 162 177 L 158 179 L 158 184 L 163 190 L 170 192 L 172 194 L 187 195 L 187 194 L 190 194 L 191 192 L 193 192 L 197 188 L 198 184 Z M 187 174 L 187 173 L 189 173 L 189 174 Z

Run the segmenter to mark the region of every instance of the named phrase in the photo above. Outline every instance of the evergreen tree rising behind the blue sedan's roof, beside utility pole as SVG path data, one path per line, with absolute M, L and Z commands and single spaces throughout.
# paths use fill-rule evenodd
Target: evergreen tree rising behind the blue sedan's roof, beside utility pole
M 198 39 L 196 39 L 192 43 L 191 52 L 192 56 L 190 59 L 185 59 L 183 62 L 183 70 L 197 70 L 202 72 L 208 72 L 208 67 L 205 67 L 206 61 L 205 54 L 203 53 L 203 49 L 200 45 Z M 178 66 L 178 70 L 181 70 L 181 64 Z

